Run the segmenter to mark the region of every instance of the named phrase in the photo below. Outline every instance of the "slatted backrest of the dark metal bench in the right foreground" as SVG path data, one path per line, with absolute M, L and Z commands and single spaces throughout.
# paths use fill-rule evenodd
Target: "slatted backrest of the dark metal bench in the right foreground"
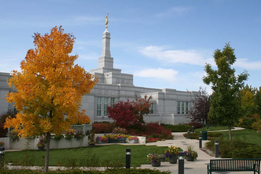
M 260 168 L 260 159 L 220 159 L 210 160 L 210 169 L 224 169 L 244 171 L 249 168 L 258 170 Z

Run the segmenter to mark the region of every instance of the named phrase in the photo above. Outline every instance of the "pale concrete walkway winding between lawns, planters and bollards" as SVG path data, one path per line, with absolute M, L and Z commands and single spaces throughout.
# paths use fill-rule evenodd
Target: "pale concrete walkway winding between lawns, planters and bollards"
M 232 129 L 232 131 L 235 130 L 241 130 L 244 128 L 239 128 L 239 127 L 234 127 L 235 129 Z M 222 131 L 228 131 L 228 130 L 222 130 Z M 156 146 L 168 146 L 170 147 L 171 145 L 177 146 L 182 148 L 183 150 L 186 149 L 186 146 L 188 144 L 192 144 L 194 146 L 194 150 L 197 151 L 198 153 L 198 158 L 197 160 L 190 162 L 184 160 L 184 173 L 185 174 L 199 174 L 199 173 L 207 173 L 207 164 L 209 164 L 209 160 L 211 159 L 220 159 L 220 158 L 215 158 L 207 153 L 203 152 L 199 148 L 199 140 L 196 139 L 186 139 L 183 134 L 186 132 L 177 132 L 177 133 L 172 133 L 174 135 L 174 139 L 172 140 L 165 140 L 165 141 L 158 141 L 154 143 L 146 143 L 147 146 L 150 145 L 156 145 Z M 204 148 L 205 142 L 208 140 L 202 140 L 202 147 Z M 122 145 L 130 145 L 130 144 L 124 144 L 124 143 L 118 143 Z M 101 144 L 101 145 L 106 145 L 106 144 Z M 135 145 L 135 144 L 133 144 Z M 50 170 L 56 170 L 57 167 L 50 166 Z M 153 167 L 151 164 L 142 164 L 140 168 L 156 168 L 160 171 L 171 171 L 172 174 L 177 174 L 178 173 L 178 163 L 177 164 L 170 164 L 169 162 L 162 162 L 160 167 Z M 100 168 L 101 170 L 104 170 L 104 168 Z M 212 172 L 212 173 L 219 173 L 219 174 L 228 174 L 228 173 L 233 173 L 233 174 L 250 174 L 253 172 Z

